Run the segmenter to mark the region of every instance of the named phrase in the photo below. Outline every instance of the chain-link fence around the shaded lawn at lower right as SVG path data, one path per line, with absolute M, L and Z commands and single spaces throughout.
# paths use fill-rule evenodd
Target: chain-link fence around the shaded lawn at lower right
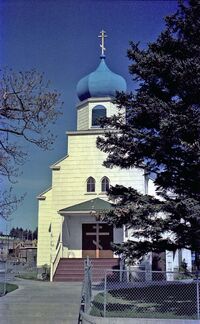
M 99 317 L 200 319 L 200 279 L 195 273 L 105 270 L 92 281 L 85 269 L 87 314 Z M 96 276 L 97 278 L 97 276 Z

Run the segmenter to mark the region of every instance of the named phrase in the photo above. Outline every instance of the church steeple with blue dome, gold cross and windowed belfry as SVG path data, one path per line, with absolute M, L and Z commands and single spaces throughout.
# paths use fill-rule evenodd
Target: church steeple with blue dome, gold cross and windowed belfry
M 78 130 L 100 128 L 99 118 L 117 113 L 117 107 L 112 103 L 116 91 L 126 91 L 125 79 L 112 72 L 105 62 L 106 32 L 102 30 L 98 37 L 101 38 L 100 64 L 77 84 L 77 95 L 81 101 L 77 106 Z

